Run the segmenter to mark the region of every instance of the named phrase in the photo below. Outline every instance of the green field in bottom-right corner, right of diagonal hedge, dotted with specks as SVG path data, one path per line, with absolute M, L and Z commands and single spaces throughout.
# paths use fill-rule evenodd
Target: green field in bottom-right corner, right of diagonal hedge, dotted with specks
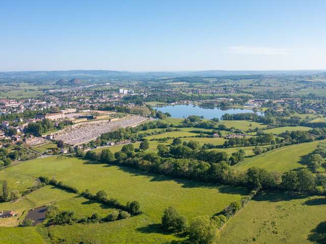
M 257 196 L 225 226 L 218 243 L 312 243 L 311 231 L 325 221 L 325 198 L 286 196 Z

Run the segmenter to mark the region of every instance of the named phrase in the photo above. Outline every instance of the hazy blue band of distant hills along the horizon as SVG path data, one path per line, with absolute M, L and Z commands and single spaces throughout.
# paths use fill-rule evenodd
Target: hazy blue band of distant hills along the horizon
M 48 82 L 58 80 L 58 85 L 79 85 L 96 82 L 101 79 L 157 79 L 180 77 L 223 77 L 238 79 L 238 76 L 250 75 L 318 75 L 325 74 L 325 70 L 289 70 L 289 71 L 241 71 L 241 70 L 203 70 L 203 71 L 152 71 L 130 72 L 114 70 L 61 70 L 61 71 L 12 71 L 0 72 L 0 83 L 5 82 Z M 79 77 L 82 81 L 78 80 Z

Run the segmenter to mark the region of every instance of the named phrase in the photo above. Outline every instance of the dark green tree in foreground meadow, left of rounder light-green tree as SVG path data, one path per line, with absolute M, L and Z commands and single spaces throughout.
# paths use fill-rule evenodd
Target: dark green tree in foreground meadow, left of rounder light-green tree
M 166 230 L 182 231 L 187 228 L 187 220 L 179 214 L 175 207 L 170 206 L 164 210 L 162 227 Z

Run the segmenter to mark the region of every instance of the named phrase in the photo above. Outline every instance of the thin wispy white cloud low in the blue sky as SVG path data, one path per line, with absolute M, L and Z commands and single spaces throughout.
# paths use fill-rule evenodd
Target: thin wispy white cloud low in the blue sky
M 254 55 L 284 55 L 290 52 L 286 48 L 270 48 L 270 47 L 246 47 L 234 46 L 228 47 L 227 51 L 233 54 L 254 54 Z

